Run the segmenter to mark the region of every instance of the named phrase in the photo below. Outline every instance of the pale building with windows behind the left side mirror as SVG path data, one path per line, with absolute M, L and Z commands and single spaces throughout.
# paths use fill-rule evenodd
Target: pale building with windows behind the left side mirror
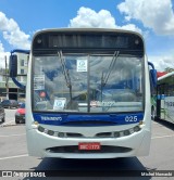
M 15 53 L 17 55 L 17 80 L 26 85 L 28 55 Z M 5 60 L 4 60 L 5 63 Z M 0 98 L 10 100 L 25 99 L 25 90 L 20 89 L 9 77 L 9 67 L 0 69 Z

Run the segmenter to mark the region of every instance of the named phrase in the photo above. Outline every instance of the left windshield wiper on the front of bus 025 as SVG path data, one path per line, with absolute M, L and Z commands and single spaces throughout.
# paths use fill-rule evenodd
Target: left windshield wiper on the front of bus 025
M 70 74 L 69 74 L 69 69 L 66 68 L 66 63 L 65 63 L 65 59 L 63 56 L 62 51 L 58 51 L 58 56 L 61 60 L 62 74 L 64 75 L 66 86 L 70 89 L 70 100 L 72 102 L 72 82 L 71 82 L 71 77 L 70 77 Z

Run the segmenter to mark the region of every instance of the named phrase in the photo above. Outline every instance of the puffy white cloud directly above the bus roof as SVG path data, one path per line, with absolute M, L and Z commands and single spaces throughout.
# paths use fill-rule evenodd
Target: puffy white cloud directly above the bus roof
M 134 24 L 127 24 L 124 26 L 116 25 L 115 18 L 107 10 L 96 12 L 85 7 L 79 8 L 77 16 L 70 21 L 69 27 L 119 28 L 135 30 L 140 34 L 142 33 L 141 29 L 136 27 Z

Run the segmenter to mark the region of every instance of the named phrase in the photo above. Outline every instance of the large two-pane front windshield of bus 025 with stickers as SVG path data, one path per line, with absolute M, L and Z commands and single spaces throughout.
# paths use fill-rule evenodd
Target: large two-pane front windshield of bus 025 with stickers
M 33 56 L 33 110 L 45 112 L 140 112 L 142 57 L 62 53 Z

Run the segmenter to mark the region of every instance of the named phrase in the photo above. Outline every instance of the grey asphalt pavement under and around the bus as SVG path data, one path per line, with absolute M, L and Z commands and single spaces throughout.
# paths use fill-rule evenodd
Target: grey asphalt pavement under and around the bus
M 0 125 L 0 170 L 55 170 L 59 179 L 108 180 L 108 179 L 173 179 L 174 177 L 133 177 L 130 172 L 149 170 L 174 170 L 174 125 L 152 121 L 152 139 L 149 156 L 115 159 L 60 159 L 37 158 L 27 154 L 25 125 L 15 125 L 16 110 L 5 110 L 7 120 Z M 117 177 L 115 172 L 125 173 Z M 174 175 L 174 171 L 173 171 Z M 37 179 L 37 178 L 0 178 L 0 179 Z M 39 178 L 40 179 L 40 178 Z M 41 178 L 42 179 L 42 178 Z M 45 178 L 48 179 L 48 178 Z M 49 178 L 49 179 L 58 179 Z

